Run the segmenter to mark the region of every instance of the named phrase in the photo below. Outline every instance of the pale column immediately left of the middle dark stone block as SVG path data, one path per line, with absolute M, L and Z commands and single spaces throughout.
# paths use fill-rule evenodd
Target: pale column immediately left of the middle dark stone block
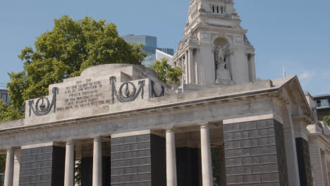
M 102 141 L 101 137 L 94 138 L 93 149 L 93 182 L 92 186 L 102 185 Z

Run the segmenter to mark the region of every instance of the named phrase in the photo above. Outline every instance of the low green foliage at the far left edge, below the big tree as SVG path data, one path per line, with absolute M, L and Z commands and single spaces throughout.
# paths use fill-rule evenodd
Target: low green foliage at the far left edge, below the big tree
M 23 113 L 20 110 L 13 108 L 13 106 L 9 106 L 0 99 L 0 122 L 4 122 L 7 120 L 15 120 L 19 118 L 23 118 Z

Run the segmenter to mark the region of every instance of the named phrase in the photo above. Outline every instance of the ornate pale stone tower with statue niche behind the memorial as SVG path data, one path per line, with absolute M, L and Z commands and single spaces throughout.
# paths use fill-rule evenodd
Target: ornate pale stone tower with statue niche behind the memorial
M 173 57 L 185 89 L 253 82 L 255 49 L 240 26 L 233 0 L 191 0 L 188 21 Z

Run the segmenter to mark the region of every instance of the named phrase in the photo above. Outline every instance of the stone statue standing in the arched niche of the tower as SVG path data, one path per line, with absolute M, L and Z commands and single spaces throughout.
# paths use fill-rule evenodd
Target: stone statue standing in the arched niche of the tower
M 226 69 L 226 56 L 229 54 L 229 46 L 216 46 L 214 49 L 214 62 L 216 67 L 216 84 L 221 84 L 221 80 L 231 80 L 231 74 Z

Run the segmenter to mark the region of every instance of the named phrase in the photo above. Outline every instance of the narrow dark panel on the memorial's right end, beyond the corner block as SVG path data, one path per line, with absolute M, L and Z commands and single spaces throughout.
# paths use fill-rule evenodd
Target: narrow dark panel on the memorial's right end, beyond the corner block
M 295 138 L 297 148 L 298 168 L 301 186 L 312 186 L 312 168 L 310 166 L 310 147 L 302 137 Z

